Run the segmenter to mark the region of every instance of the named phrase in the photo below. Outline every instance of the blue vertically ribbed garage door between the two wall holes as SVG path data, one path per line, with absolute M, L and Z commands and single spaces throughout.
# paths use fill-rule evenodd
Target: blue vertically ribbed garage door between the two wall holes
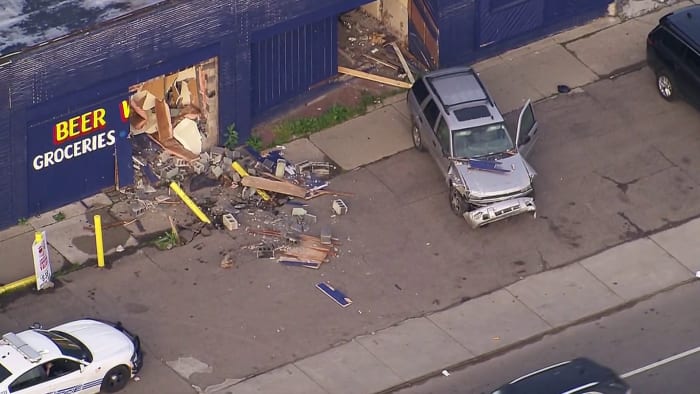
M 251 43 L 252 115 L 304 92 L 338 72 L 333 15 Z

